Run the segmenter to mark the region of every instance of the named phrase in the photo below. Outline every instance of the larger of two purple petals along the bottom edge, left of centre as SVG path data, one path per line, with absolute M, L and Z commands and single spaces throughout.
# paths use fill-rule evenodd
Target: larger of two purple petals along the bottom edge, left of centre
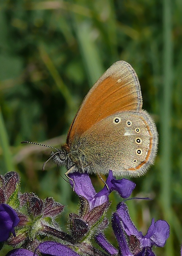
M 60 255 L 69 255 L 69 256 L 79 256 L 78 253 L 74 252 L 67 245 L 59 244 L 57 242 L 43 242 L 39 244 L 38 249 L 40 250 L 41 255 L 46 256 L 60 256 Z

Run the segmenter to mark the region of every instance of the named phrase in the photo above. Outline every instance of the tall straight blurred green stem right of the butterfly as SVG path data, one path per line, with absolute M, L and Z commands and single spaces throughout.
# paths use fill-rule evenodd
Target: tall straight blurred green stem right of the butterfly
M 162 167 L 162 193 L 161 203 L 164 217 L 172 223 L 171 214 L 171 91 L 172 84 L 172 23 L 171 1 L 163 0 L 163 101 L 161 105 L 161 167 Z M 166 243 L 166 256 L 174 255 L 173 235 Z

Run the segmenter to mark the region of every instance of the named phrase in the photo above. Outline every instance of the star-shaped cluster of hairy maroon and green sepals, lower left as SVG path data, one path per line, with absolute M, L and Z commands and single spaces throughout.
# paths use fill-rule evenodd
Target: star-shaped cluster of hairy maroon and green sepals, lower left
M 20 244 L 23 248 L 35 248 L 39 244 L 39 237 L 50 235 L 47 232 L 47 226 L 50 226 L 60 231 L 55 218 L 62 212 L 61 204 L 54 201 L 52 198 L 47 198 L 44 202 L 33 193 L 25 193 L 20 196 L 21 207 L 25 206 L 26 215 L 19 225 L 17 236 L 11 237 L 9 244 L 15 246 Z M 51 234 L 52 235 L 52 234 Z

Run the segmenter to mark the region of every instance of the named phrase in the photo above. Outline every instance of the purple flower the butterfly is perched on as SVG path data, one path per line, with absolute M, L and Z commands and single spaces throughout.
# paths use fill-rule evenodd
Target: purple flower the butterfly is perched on
M 108 196 L 112 191 L 117 191 L 119 195 L 123 198 L 127 198 L 131 195 L 133 189 L 135 188 L 135 183 L 127 180 L 125 178 L 121 180 L 116 180 L 112 171 L 109 171 L 106 184 L 109 189 L 107 189 L 106 185 L 104 188 L 96 193 L 90 177 L 87 173 L 70 173 L 68 174 L 72 180 L 74 180 L 74 190 L 77 195 L 83 196 L 86 198 L 90 204 L 90 210 L 92 210 L 96 206 L 100 206 L 101 204 L 108 201 Z M 73 187 L 73 182 L 70 180 L 70 184 Z

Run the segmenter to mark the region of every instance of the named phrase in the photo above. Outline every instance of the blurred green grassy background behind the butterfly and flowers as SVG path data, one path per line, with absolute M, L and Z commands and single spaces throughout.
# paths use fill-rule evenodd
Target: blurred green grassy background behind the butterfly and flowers
M 59 147 L 83 97 L 117 60 L 138 74 L 143 108 L 159 131 L 155 165 L 140 178 L 128 207 L 139 230 L 151 218 L 170 224 L 157 255 L 179 255 L 182 243 L 182 1 L 0 1 L 0 173 L 16 170 L 21 192 L 65 204 L 60 225 L 78 197 L 63 180 L 65 169 L 48 162 L 51 150 L 21 145 L 30 140 Z M 96 190 L 103 184 L 92 180 Z M 108 217 L 120 201 L 110 196 Z M 68 207 L 67 207 L 68 206 Z M 110 229 L 106 237 L 117 246 Z

